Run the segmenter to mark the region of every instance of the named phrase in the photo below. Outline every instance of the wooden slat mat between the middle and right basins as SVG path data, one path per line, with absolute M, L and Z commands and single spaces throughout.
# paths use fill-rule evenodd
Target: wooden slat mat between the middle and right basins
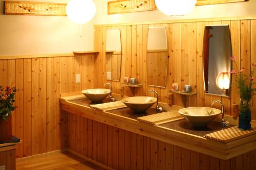
M 156 113 L 148 116 L 138 117 L 137 120 L 148 124 L 159 125 L 184 118 L 177 110 L 171 110 L 163 113 Z

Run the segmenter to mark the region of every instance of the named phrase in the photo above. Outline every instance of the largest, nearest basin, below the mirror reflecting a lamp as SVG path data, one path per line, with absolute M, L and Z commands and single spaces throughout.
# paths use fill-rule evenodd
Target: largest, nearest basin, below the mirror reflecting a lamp
M 221 114 L 221 110 L 211 107 L 187 107 L 178 112 L 195 127 L 205 127 Z

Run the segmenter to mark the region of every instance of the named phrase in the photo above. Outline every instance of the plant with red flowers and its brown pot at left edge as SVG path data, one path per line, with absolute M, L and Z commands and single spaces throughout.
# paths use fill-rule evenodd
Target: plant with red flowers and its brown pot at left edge
M 7 142 L 12 139 L 11 111 L 15 109 L 16 87 L 0 85 L 0 142 Z

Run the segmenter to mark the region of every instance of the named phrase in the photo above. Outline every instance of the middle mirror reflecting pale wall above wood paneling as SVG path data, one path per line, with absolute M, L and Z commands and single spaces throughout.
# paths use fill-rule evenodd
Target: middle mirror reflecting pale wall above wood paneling
M 148 28 L 147 81 L 150 86 L 165 87 L 167 77 L 167 37 L 165 27 Z

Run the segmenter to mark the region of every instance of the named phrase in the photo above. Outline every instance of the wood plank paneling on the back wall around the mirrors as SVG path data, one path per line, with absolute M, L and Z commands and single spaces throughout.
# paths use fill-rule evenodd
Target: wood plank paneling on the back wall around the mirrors
M 175 105 L 184 106 L 210 106 L 213 100 L 221 100 L 225 106 L 225 114 L 231 115 L 233 112 L 233 104 L 239 104 L 239 95 L 237 88 L 232 80 L 232 88 L 230 98 L 210 95 L 204 93 L 203 84 L 203 36 L 205 25 L 229 25 L 232 42 L 233 56 L 238 56 L 236 64 L 238 69 L 250 69 L 250 62 L 255 62 L 255 29 L 253 29 L 255 20 L 216 20 L 216 21 L 194 21 L 194 22 L 164 22 L 155 25 L 125 25 L 118 26 L 121 29 L 121 44 L 122 44 L 122 68 L 121 81 L 124 76 L 136 77 L 138 82 L 143 86 L 141 88 L 125 87 L 124 95 L 147 95 L 147 91 L 154 89 L 160 95 L 160 102 L 167 103 L 168 90 L 172 83 L 179 83 L 182 89 L 185 84 L 191 84 L 193 90 L 197 92 L 196 95 L 191 96 L 186 102 L 179 94 L 174 94 Z M 148 27 L 165 26 L 167 29 L 168 39 L 168 71 L 167 71 L 167 85 L 166 88 L 150 87 L 147 85 L 147 29 Z M 98 26 L 95 30 L 107 29 L 111 26 Z M 116 26 L 117 27 L 117 26 Z M 103 38 L 103 39 L 102 39 Z M 104 43 L 98 41 L 105 41 L 105 37 L 100 36 L 95 32 L 95 50 L 104 49 Z M 103 59 L 102 54 L 99 59 Z M 96 65 L 102 67 L 95 61 Z M 101 62 L 102 63 L 102 62 Z M 102 63 L 103 66 L 105 63 Z M 103 75 L 106 70 L 103 69 Z M 141 75 L 142 74 L 142 75 Z M 102 74 L 94 74 L 95 77 L 101 78 Z M 105 76 L 102 78 L 104 82 Z M 99 81 L 99 80 L 98 80 Z M 120 89 L 120 84 L 114 81 L 109 81 L 113 89 Z M 119 90 L 115 90 L 119 93 Z M 256 97 L 254 97 L 255 99 Z M 254 102 L 255 103 L 255 102 Z M 252 112 L 255 112 L 256 105 L 253 103 Z M 220 108 L 219 105 L 215 106 Z M 252 114 L 252 119 L 255 119 L 255 114 Z

